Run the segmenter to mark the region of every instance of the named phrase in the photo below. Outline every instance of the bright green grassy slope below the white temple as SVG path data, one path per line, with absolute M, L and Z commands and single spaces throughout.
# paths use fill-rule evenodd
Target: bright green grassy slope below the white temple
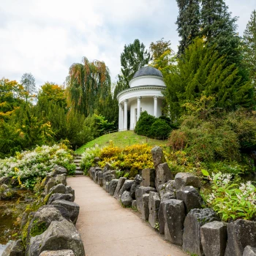
M 109 141 L 113 140 L 115 146 L 124 148 L 125 146 L 132 146 L 134 144 L 143 144 L 148 143 L 150 146 L 165 146 L 166 140 L 154 140 L 151 138 L 146 138 L 145 136 L 137 135 L 133 131 L 124 131 L 124 132 L 114 132 L 108 135 L 103 135 L 95 140 L 91 140 L 86 145 L 81 146 L 75 151 L 76 154 L 82 154 L 85 148 L 91 148 L 95 144 L 98 144 L 99 147 L 108 146 Z

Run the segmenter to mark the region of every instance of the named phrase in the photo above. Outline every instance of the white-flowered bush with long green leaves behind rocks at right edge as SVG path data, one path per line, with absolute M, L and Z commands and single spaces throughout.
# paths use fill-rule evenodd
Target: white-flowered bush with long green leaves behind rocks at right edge
M 212 192 L 207 197 L 208 206 L 224 221 L 256 217 L 256 188 L 251 181 L 237 184 L 230 181 L 230 174 L 209 176 L 206 170 L 203 170 L 203 174 L 212 182 Z

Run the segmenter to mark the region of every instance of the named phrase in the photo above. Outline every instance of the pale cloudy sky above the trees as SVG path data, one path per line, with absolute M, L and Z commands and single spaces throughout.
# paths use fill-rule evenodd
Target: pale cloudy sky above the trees
M 238 18 L 238 33 L 256 0 L 226 0 Z M 83 56 L 105 61 L 114 81 L 124 45 L 140 39 L 148 48 L 164 37 L 177 50 L 176 0 L 1 0 L 0 78 L 25 72 L 63 84 L 69 67 Z

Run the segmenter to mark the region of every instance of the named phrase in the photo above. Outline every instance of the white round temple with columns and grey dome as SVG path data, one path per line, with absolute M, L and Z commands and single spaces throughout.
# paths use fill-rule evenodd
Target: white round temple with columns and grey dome
M 117 95 L 119 104 L 118 130 L 127 130 L 128 110 L 130 113 L 129 129 L 135 129 L 142 111 L 151 116 L 162 116 L 162 102 L 165 82 L 162 72 L 154 67 L 143 67 L 138 70 L 129 82 L 129 89 Z

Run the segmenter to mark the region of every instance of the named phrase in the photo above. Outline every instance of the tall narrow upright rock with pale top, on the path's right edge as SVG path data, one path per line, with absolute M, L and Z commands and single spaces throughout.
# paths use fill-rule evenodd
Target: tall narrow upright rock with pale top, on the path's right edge
M 173 244 L 182 245 L 185 219 L 184 203 L 170 199 L 164 203 L 165 239 Z

